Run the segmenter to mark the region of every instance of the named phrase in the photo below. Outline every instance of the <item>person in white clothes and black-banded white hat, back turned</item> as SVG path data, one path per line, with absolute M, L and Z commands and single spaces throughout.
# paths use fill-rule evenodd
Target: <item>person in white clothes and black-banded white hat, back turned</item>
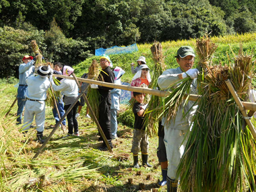
M 48 76 L 53 73 L 53 69 L 47 66 L 40 66 L 37 70 L 37 76 L 31 76 L 26 79 L 28 89 L 26 90 L 26 105 L 24 111 L 23 131 L 30 129 L 30 125 L 34 119 L 36 121 L 37 138 L 40 143 L 44 143 L 42 132 L 44 131 L 45 121 L 45 100 L 46 92 L 51 83 Z

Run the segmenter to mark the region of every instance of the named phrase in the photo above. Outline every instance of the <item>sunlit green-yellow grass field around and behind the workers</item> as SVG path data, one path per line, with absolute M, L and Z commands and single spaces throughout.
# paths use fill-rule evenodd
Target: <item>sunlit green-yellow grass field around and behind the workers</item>
M 241 36 L 224 36 L 212 38 L 219 46 L 214 56 L 214 64 L 228 64 L 228 55 L 232 51 L 237 53 L 240 42 L 243 42 L 245 53 L 255 53 L 256 34 L 244 34 Z M 174 55 L 181 45 L 191 45 L 195 40 L 180 40 L 177 42 L 162 42 L 165 63 L 168 67 L 177 66 Z M 230 44 L 230 45 L 229 45 Z M 114 67 L 122 67 L 126 73 L 122 77 L 123 82 L 131 82 L 130 64 L 135 62 L 140 55 L 146 57 L 147 64 L 152 69 L 154 61 L 150 52 L 152 44 L 138 44 L 136 53 L 110 55 Z M 92 63 L 92 57 L 77 64 L 75 74 L 77 77 L 88 72 L 88 66 Z M 195 60 L 197 62 L 197 60 Z M 17 79 L 0 80 L 0 191 L 165 191 L 166 187 L 159 189 L 156 185 L 161 178 L 161 170 L 158 165 L 156 149 L 158 138 L 150 138 L 150 164 L 152 168 L 132 168 L 133 160 L 131 150 L 131 127 L 119 123 L 118 139 L 113 141 L 113 154 L 96 150 L 100 146 L 98 131 L 91 119 L 85 118 L 85 109 L 78 118 L 80 137 L 66 137 L 61 129 L 58 129 L 42 153 L 32 160 L 40 148 L 36 142 L 36 130 L 30 130 L 24 137 L 20 133 L 21 126 L 15 125 L 15 113 L 17 104 L 11 109 L 8 117 L 5 113 L 11 106 L 17 88 Z M 121 106 L 121 112 L 127 106 Z M 48 136 L 54 125 L 51 107 L 46 107 L 46 121 L 44 135 Z M 139 156 L 139 160 L 141 157 Z M 141 164 L 141 162 L 140 162 Z M 128 183 L 132 179 L 132 183 Z

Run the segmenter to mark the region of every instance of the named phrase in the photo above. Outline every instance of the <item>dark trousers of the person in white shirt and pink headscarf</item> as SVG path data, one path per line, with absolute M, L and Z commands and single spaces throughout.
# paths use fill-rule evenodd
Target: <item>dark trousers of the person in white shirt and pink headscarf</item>
M 78 123 L 77 123 L 77 120 L 75 119 L 75 114 L 76 114 L 78 105 L 79 105 L 79 102 L 77 102 L 75 106 L 73 106 L 73 108 L 67 114 L 67 124 L 69 128 L 69 134 L 73 134 L 73 132 L 74 133 L 78 132 Z M 67 110 L 69 106 L 71 106 L 71 104 L 65 105 L 64 109 Z

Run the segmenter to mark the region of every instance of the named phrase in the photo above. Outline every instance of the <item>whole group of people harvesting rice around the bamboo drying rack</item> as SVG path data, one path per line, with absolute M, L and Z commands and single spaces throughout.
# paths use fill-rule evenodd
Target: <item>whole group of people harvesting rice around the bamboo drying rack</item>
M 175 55 L 179 67 L 176 69 L 167 69 L 158 77 L 158 86 L 162 90 L 168 90 L 175 88 L 179 81 L 185 77 L 193 79 L 191 84 L 191 94 L 197 94 L 196 77 L 198 75 L 197 69 L 192 69 L 195 53 L 190 46 L 181 46 Z M 79 90 L 77 84 L 73 79 L 59 79 L 59 85 L 55 84 L 53 79 L 53 69 L 47 66 L 41 66 L 36 69 L 37 76 L 34 76 L 34 63 L 36 57 L 25 55 L 22 59 L 23 64 L 20 65 L 20 82 L 18 88 L 18 118 L 17 122 L 22 123 L 22 110 L 26 103 L 24 112 L 24 125 L 23 131 L 30 129 L 30 125 L 36 116 L 36 131 L 38 141 L 44 142 L 42 139 L 42 132 L 44 131 L 45 120 L 45 100 L 46 91 L 53 86 L 53 90 L 61 91 L 64 95 L 63 102 L 64 110 L 69 109 L 71 104 L 77 100 Z M 71 75 L 73 69 L 69 66 L 57 65 L 56 71 L 62 71 L 63 75 Z M 125 71 L 120 67 L 116 67 L 114 70 L 110 69 L 112 62 L 107 55 L 100 57 L 100 80 L 112 84 L 121 84 L 121 76 Z M 57 68 L 60 68 L 58 70 Z M 61 68 L 63 69 L 61 70 Z M 137 66 L 131 64 L 131 71 L 135 73 L 131 86 L 140 87 L 142 85 L 148 86 L 151 82 L 150 68 L 146 65 L 146 58 L 141 56 L 137 60 Z M 59 72 L 60 73 L 60 72 Z M 50 78 L 48 78 L 50 77 Z M 86 75 L 84 75 L 86 77 Z M 88 85 L 87 85 L 88 87 Z M 87 88 L 86 87 L 86 88 Z M 108 144 L 113 148 L 112 139 L 117 137 L 117 110 L 119 110 L 119 98 L 121 90 L 107 88 L 104 86 L 98 86 L 96 84 L 90 84 L 90 88 L 98 89 L 100 93 L 100 106 L 99 106 L 99 118 L 98 122 Z M 83 90 L 84 91 L 84 90 Z M 139 168 L 138 153 L 141 151 L 143 166 L 150 167 L 148 163 L 148 135 L 146 133 L 146 127 L 143 127 L 143 115 L 147 104 L 144 102 L 144 95 L 138 92 L 133 92 L 132 97 L 135 98 L 133 104 L 133 113 L 135 115 L 135 123 L 133 130 L 133 143 L 131 152 L 133 153 L 133 167 Z M 62 103 L 62 98 L 59 98 L 59 103 Z M 189 110 L 193 106 L 193 102 L 189 101 L 185 106 L 183 104 L 179 106 L 177 116 L 174 121 L 166 123 L 164 119 L 159 124 L 158 133 L 158 160 L 160 161 L 162 168 L 162 181 L 158 185 L 163 186 L 167 183 L 167 191 L 177 191 L 178 179 L 176 172 L 177 166 L 183 156 L 185 145 L 187 143 L 187 136 L 189 135 L 189 127 L 191 123 L 191 117 L 193 111 Z M 78 123 L 77 123 L 77 108 L 79 107 L 79 101 L 67 114 L 68 123 L 68 135 L 79 135 Z M 58 106 L 59 108 L 59 106 Z M 183 112 L 185 111 L 185 112 Z M 189 113 L 187 113 L 189 112 Z M 185 117 L 184 117 L 184 114 Z M 63 112 L 62 112 L 63 114 Z M 65 121 L 62 122 L 65 125 Z M 26 133 L 26 132 L 25 132 Z M 100 135 L 101 137 L 102 135 Z M 108 150 L 105 141 L 102 142 L 99 150 Z

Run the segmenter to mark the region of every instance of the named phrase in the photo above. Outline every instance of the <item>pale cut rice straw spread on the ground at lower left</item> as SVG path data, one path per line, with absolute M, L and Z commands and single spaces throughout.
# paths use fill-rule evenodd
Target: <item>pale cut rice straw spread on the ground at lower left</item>
M 40 147 L 30 139 L 32 133 L 20 133 L 22 125 L 15 126 L 15 117 L 3 118 L 4 113 L 0 116 L 0 191 L 65 191 L 67 185 L 98 177 L 97 168 L 84 162 L 103 154 L 90 148 L 82 150 L 79 141 L 72 145 L 59 139 L 53 141 L 51 151 L 45 150 L 32 160 Z

